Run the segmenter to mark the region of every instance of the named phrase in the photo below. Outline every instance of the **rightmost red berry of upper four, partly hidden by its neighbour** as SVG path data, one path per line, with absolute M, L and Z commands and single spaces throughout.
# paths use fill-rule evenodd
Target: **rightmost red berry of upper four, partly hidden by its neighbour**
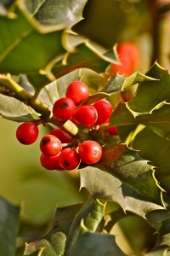
M 98 112 L 98 119 L 95 125 L 101 125 L 107 122 L 111 116 L 111 113 L 113 112 L 111 102 L 100 100 L 95 102 L 93 106 Z

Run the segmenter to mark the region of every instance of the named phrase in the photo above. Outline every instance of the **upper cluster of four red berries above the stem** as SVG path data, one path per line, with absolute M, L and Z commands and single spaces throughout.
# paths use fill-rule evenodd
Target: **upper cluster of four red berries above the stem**
M 103 125 L 108 122 L 113 108 L 111 102 L 99 100 L 94 104 L 83 104 L 89 96 L 88 86 L 80 81 L 68 85 L 65 97 L 54 102 L 54 117 L 59 121 L 71 119 L 84 127 Z

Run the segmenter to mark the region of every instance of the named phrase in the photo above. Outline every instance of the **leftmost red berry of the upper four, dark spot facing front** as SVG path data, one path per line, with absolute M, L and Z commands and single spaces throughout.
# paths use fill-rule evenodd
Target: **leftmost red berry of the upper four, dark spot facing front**
M 60 98 L 54 102 L 53 113 L 59 121 L 71 119 L 75 113 L 75 103 L 68 97 Z

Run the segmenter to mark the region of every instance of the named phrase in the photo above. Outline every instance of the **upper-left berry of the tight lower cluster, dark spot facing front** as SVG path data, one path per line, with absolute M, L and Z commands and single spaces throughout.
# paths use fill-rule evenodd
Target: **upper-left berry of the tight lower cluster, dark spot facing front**
M 42 140 L 40 142 L 40 149 L 43 154 L 46 154 L 48 156 L 59 154 L 61 148 L 61 142 L 54 135 L 48 134 L 42 137 Z

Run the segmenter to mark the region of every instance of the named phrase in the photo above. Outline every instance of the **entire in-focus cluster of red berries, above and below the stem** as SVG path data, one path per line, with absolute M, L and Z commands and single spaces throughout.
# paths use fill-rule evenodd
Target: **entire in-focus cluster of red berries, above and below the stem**
M 85 127 L 108 122 L 113 111 L 111 103 L 100 100 L 91 105 L 83 104 L 88 96 L 89 89 L 86 84 L 80 81 L 72 82 L 67 87 L 65 97 L 54 102 L 54 117 L 59 121 L 71 119 L 77 125 Z M 27 122 L 18 127 L 16 137 L 20 143 L 29 145 L 37 140 L 38 133 L 37 124 Z M 41 164 L 48 170 L 74 170 L 81 161 L 85 164 L 95 164 L 102 156 L 99 143 L 92 140 L 77 142 L 59 128 L 42 137 L 40 149 Z

